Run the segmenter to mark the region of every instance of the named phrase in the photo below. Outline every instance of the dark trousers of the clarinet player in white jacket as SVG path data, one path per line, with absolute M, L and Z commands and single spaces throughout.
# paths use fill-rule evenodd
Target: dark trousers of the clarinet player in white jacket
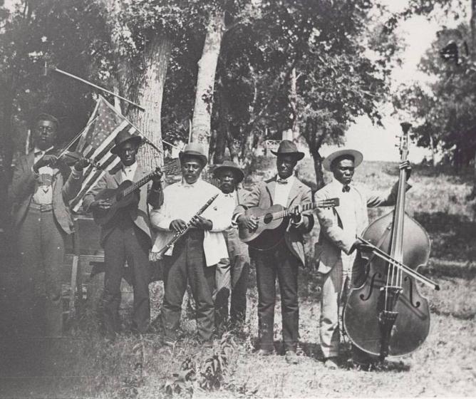
M 212 336 L 215 266 L 207 266 L 205 262 L 203 237 L 202 230 L 190 230 L 175 244 L 172 257 L 166 257 L 162 325 L 167 341 L 177 340 L 187 279 L 197 308 L 198 336 L 205 341 Z

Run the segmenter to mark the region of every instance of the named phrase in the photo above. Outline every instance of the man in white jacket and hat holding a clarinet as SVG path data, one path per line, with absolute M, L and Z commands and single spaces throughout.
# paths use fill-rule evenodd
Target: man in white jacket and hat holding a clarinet
M 187 280 L 195 299 L 198 337 L 209 341 L 214 331 L 215 267 L 220 259 L 227 258 L 227 245 L 223 231 L 230 225 L 229 215 L 212 202 L 201 215 L 198 210 L 214 195 L 217 187 L 204 182 L 200 175 L 207 165 L 207 155 L 201 145 L 192 142 L 180 152 L 182 180 L 165 187 L 164 202 L 151 212 L 150 220 L 156 227 L 152 254 L 159 252 L 177 232 L 190 222 L 190 229 L 165 253 L 165 294 L 162 305 L 164 343 L 173 345 L 178 338 L 182 299 Z

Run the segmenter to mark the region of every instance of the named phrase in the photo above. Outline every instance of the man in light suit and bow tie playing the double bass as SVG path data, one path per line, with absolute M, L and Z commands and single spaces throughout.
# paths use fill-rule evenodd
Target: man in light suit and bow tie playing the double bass
M 344 288 L 346 281 L 351 280 L 348 277 L 356 249 L 362 245 L 356 236 L 368 226 L 367 208 L 395 204 L 398 190 L 398 182 L 386 193 L 366 192 L 363 187 L 351 184 L 354 170 L 362 160 L 363 155 L 356 150 L 338 150 L 326 157 L 323 166 L 333 173 L 333 180 L 314 195 L 315 202 L 334 197 L 340 200 L 333 209 L 317 209 L 321 232 L 315 256 L 318 270 L 324 274 L 319 335 L 327 368 L 337 368 L 338 321 L 346 300 Z M 410 163 L 402 162 L 400 169 L 403 168 L 410 170 Z

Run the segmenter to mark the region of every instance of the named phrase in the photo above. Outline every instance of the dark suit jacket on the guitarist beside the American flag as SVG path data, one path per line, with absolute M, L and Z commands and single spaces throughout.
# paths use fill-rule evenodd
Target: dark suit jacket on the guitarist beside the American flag
M 118 167 L 115 167 L 113 170 L 106 172 L 103 177 L 100 178 L 98 183 L 86 193 L 85 197 L 83 198 L 83 209 L 86 212 L 89 211 L 90 204 L 93 203 L 95 196 L 98 195 L 99 192 L 104 189 L 115 189 L 119 187 L 120 183 L 123 182 L 121 170 L 122 164 L 118 165 Z M 137 182 L 138 180 L 142 179 L 147 174 L 148 172 L 145 172 L 142 167 L 138 166 L 137 170 L 135 170 L 135 175 L 133 179 L 134 182 Z M 148 204 L 150 204 L 153 208 L 158 208 L 164 200 L 162 190 L 157 192 L 155 190 L 151 190 L 151 187 L 151 181 L 148 182 L 148 184 L 140 187 L 140 199 L 138 207 L 128 208 L 130 218 L 133 220 L 135 225 L 148 235 L 150 247 L 152 247 L 152 233 L 150 227 Z M 114 227 L 116 227 L 115 223 L 103 226 L 100 236 L 101 245 L 104 244 L 104 240 L 106 239 L 106 237 L 108 237 L 108 234 L 113 231 Z

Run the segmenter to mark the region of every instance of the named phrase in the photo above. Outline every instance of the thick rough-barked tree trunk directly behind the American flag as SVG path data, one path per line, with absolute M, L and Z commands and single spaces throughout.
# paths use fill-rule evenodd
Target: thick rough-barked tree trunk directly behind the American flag
M 142 83 L 137 90 L 137 102 L 145 108 L 141 111 L 133 108 L 130 119 L 138 129 L 153 142 L 160 152 L 151 145 L 144 144 L 140 147 L 138 162 L 146 170 L 163 165 L 162 147 L 162 95 L 164 92 L 165 76 L 172 51 L 172 41 L 166 36 L 154 36 L 145 48 L 145 72 Z

